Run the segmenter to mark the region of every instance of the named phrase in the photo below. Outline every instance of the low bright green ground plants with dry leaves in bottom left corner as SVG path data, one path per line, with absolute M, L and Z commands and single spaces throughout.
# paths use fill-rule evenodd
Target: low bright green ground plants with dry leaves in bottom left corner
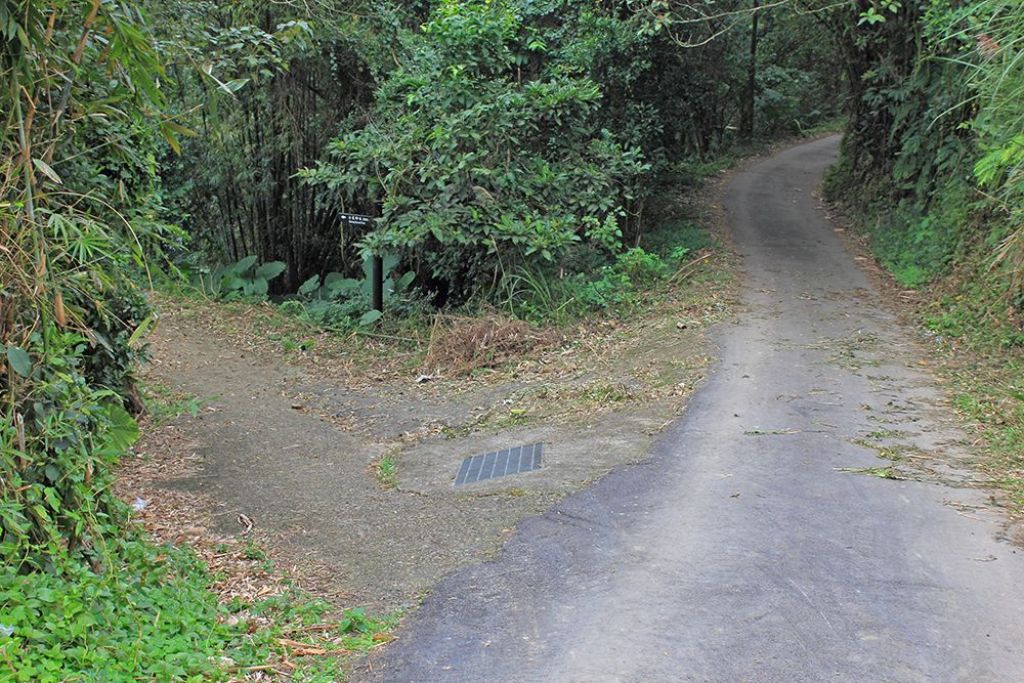
M 190 550 L 141 537 L 119 543 L 101 572 L 0 568 L 0 681 L 224 681 L 256 671 L 338 681 L 346 657 L 389 640 L 395 623 L 337 615 L 296 589 L 219 604 L 212 581 Z

